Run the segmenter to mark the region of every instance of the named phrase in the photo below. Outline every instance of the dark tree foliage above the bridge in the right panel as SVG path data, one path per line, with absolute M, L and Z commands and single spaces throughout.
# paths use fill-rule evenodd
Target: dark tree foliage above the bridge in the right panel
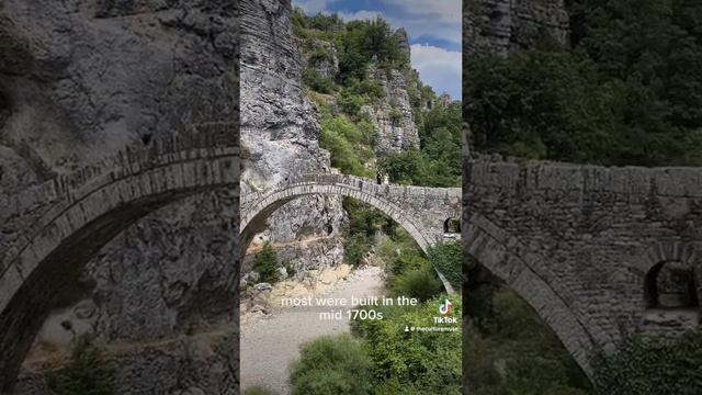
M 474 148 L 603 165 L 702 165 L 702 5 L 570 2 L 566 47 L 466 63 Z

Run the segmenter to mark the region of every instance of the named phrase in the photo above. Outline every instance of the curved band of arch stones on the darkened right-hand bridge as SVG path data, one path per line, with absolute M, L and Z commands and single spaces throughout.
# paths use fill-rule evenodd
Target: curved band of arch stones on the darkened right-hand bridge
M 482 215 L 466 211 L 464 252 L 516 291 L 556 334 L 586 375 L 592 375 L 591 353 L 597 343 L 586 325 L 559 293 L 542 276 L 545 258 L 529 251 L 516 237 Z

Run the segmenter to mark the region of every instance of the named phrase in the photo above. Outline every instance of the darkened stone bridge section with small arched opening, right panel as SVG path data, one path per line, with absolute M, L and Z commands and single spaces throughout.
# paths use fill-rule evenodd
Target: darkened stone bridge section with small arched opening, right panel
M 471 158 L 462 222 L 465 253 L 519 293 L 588 375 L 593 351 L 629 335 L 700 324 L 702 168 Z

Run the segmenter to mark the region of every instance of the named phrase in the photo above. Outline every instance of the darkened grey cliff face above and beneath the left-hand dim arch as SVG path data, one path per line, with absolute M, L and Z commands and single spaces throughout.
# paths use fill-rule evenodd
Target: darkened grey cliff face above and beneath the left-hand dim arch
M 0 211 L 11 210 L 3 206 L 8 195 L 126 146 L 208 125 L 234 133 L 237 8 L 237 1 L 0 3 Z M 165 207 L 105 246 L 46 320 L 18 393 L 48 393 L 49 368 L 38 361 L 60 365 L 81 334 L 107 345 L 121 394 L 235 393 L 233 223 L 238 198 L 222 191 Z M 14 236 L 0 235 L 0 247 Z M 228 332 L 195 350 L 193 340 L 220 323 Z

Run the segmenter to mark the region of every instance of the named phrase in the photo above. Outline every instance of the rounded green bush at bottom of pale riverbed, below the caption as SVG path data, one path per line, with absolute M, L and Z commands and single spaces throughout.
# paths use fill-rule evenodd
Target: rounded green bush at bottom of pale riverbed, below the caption
M 351 336 L 322 337 L 302 347 L 291 365 L 293 394 L 370 395 L 372 368 L 366 349 Z

